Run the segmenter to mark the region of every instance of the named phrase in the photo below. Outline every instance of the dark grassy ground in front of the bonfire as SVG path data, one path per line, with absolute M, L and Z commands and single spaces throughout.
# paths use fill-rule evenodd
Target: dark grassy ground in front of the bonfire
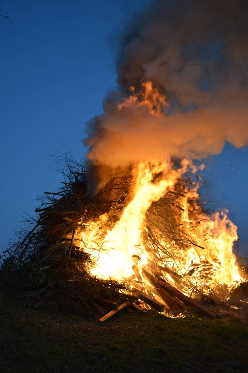
M 248 324 L 122 313 L 109 323 L 0 301 L 2 373 L 248 372 Z

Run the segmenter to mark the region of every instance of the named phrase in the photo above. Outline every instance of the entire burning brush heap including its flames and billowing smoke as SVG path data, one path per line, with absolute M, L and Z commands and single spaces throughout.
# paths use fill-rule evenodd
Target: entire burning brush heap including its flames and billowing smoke
M 87 124 L 88 163 L 65 156 L 62 187 L 6 251 L 3 291 L 102 322 L 124 309 L 216 317 L 247 306 L 237 227 L 227 210 L 204 210 L 198 177 L 226 141 L 248 142 L 247 12 L 190 4 L 156 1 L 120 38 L 120 89 Z

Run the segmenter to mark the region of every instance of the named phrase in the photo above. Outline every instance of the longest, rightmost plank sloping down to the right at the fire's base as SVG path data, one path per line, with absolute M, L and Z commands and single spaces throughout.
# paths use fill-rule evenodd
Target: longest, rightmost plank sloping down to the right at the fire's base
M 178 299 L 180 299 L 180 301 L 182 301 L 186 305 L 196 308 L 197 311 L 204 314 L 205 316 L 210 317 L 212 319 L 217 316 L 215 312 L 209 310 L 209 308 L 204 307 L 203 304 L 197 302 L 196 300 L 190 297 L 187 297 L 187 295 L 184 295 L 183 293 L 181 293 L 179 290 L 174 288 L 174 286 L 170 285 L 164 279 L 159 278 L 157 283 L 158 285 L 162 286 L 162 288 L 164 288 L 166 291 L 168 291 L 170 294 L 174 295 L 174 297 L 177 297 Z

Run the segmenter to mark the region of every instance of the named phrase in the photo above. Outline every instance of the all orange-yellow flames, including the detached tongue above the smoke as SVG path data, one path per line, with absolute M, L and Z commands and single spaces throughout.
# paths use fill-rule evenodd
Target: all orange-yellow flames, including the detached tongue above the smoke
M 118 109 L 143 106 L 153 116 L 164 116 L 165 97 L 151 82 L 142 87 L 137 95 L 132 88 L 131 96 Z M 237 227 L 228 219 L 227 210 L 213 214 L 202 211 L 196 202 L 198 184 L 183 180 L 189 171 L 195 173 L 197 169 L 186 158 L 177 166 L 172 159 L 144 159 L 132 166 L 132 183 L 119 219 L 112 222 L 106 212 L 87 226 L 79 223 L 81 249 L 95 261 L 90 268 L 92 275 L 127 282 L 131 288 L 135 286 L 157 299 L 149 273 L 176 288 L 177 279 L 181 279 L 179 287 L 183 286 L 188 295 L 202 291 L 223 296 L 225 289 L 241 281 L 233 254 Z M 170 197 L 175 214 L 170 221 L 163 220 L 156 203 L 162 207 L 164 203 L 166 208 L 163 198 Z M 152 220 L 153 232 L 147 222 L 151 211 L 158 217 Z M 167 213 L 166 209 L 163 211 Z

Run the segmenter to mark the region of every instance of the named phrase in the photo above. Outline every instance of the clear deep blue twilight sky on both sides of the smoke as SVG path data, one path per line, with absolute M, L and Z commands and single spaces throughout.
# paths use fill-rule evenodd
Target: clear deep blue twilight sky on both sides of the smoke
M 0 19 L 1 37 L 1 246 L 36 197 L 61 181 L 48 156 L 62 141 L 84 157 L 84 123 L 102 112 L 115 87 L 115 52 L 109 35 L 148 0 L 4 0 L 12 24 Z M 58 5 L 59 4 L 59 5 Z M 229 209 L 248 256 L 248 149 L 226 144 L 204 160 L 202 198 L 212 210 Z M 21 209 L 21 210 L 20 210 Z

